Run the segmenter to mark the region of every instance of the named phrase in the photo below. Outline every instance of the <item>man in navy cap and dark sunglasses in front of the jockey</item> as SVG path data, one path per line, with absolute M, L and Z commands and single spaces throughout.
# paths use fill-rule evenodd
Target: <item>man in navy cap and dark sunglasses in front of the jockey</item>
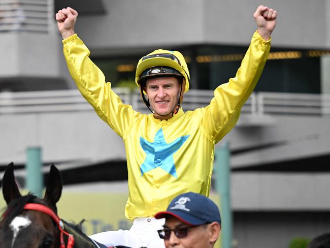
M 174 198 L 167 210 L 156 213 L 155 218 L 166 219 L 164 228 L 158 231 L 166 248 L 211 248 L 221 230 L 217 205 L 192 192 Z

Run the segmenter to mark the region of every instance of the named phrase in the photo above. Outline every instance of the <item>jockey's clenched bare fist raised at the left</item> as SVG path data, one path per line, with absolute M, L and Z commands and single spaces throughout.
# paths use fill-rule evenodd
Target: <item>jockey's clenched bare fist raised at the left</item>
M 75 34 L 74 27 L 78 17 L 77 11 L 68 7 L 59 10 L 55 17 L 59 33 L 62 35 L 63 40 Z

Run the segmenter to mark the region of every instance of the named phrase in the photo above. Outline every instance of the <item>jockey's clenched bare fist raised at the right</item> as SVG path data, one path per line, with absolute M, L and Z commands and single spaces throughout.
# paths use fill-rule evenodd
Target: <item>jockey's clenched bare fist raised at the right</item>
M 260 5 L 254 12 L 253 17 L 258 26 L 258 34 L 265 41 L 268 41 L 271 38 L 271 34 L 276 26 L 276 10 Z

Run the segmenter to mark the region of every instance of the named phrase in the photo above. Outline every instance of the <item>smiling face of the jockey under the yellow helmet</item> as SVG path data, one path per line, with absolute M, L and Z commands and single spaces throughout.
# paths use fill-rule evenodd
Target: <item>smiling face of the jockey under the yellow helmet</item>
M 181 84 L 175 77 L 154 77 L 146 81 L 145 92 L 158 119 L 169 119 L 178 104 Z

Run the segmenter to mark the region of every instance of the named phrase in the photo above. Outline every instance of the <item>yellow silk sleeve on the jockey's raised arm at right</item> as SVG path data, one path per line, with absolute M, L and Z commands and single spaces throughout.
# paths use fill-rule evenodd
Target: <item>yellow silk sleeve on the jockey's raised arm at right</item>
M 270 41 L 266 42 L 255 32 L 236 76 L 215 89 L 201 120 L 205 132 L 215 143 L 235 126 L 242 106 L 259 80 L 270 47 Z

